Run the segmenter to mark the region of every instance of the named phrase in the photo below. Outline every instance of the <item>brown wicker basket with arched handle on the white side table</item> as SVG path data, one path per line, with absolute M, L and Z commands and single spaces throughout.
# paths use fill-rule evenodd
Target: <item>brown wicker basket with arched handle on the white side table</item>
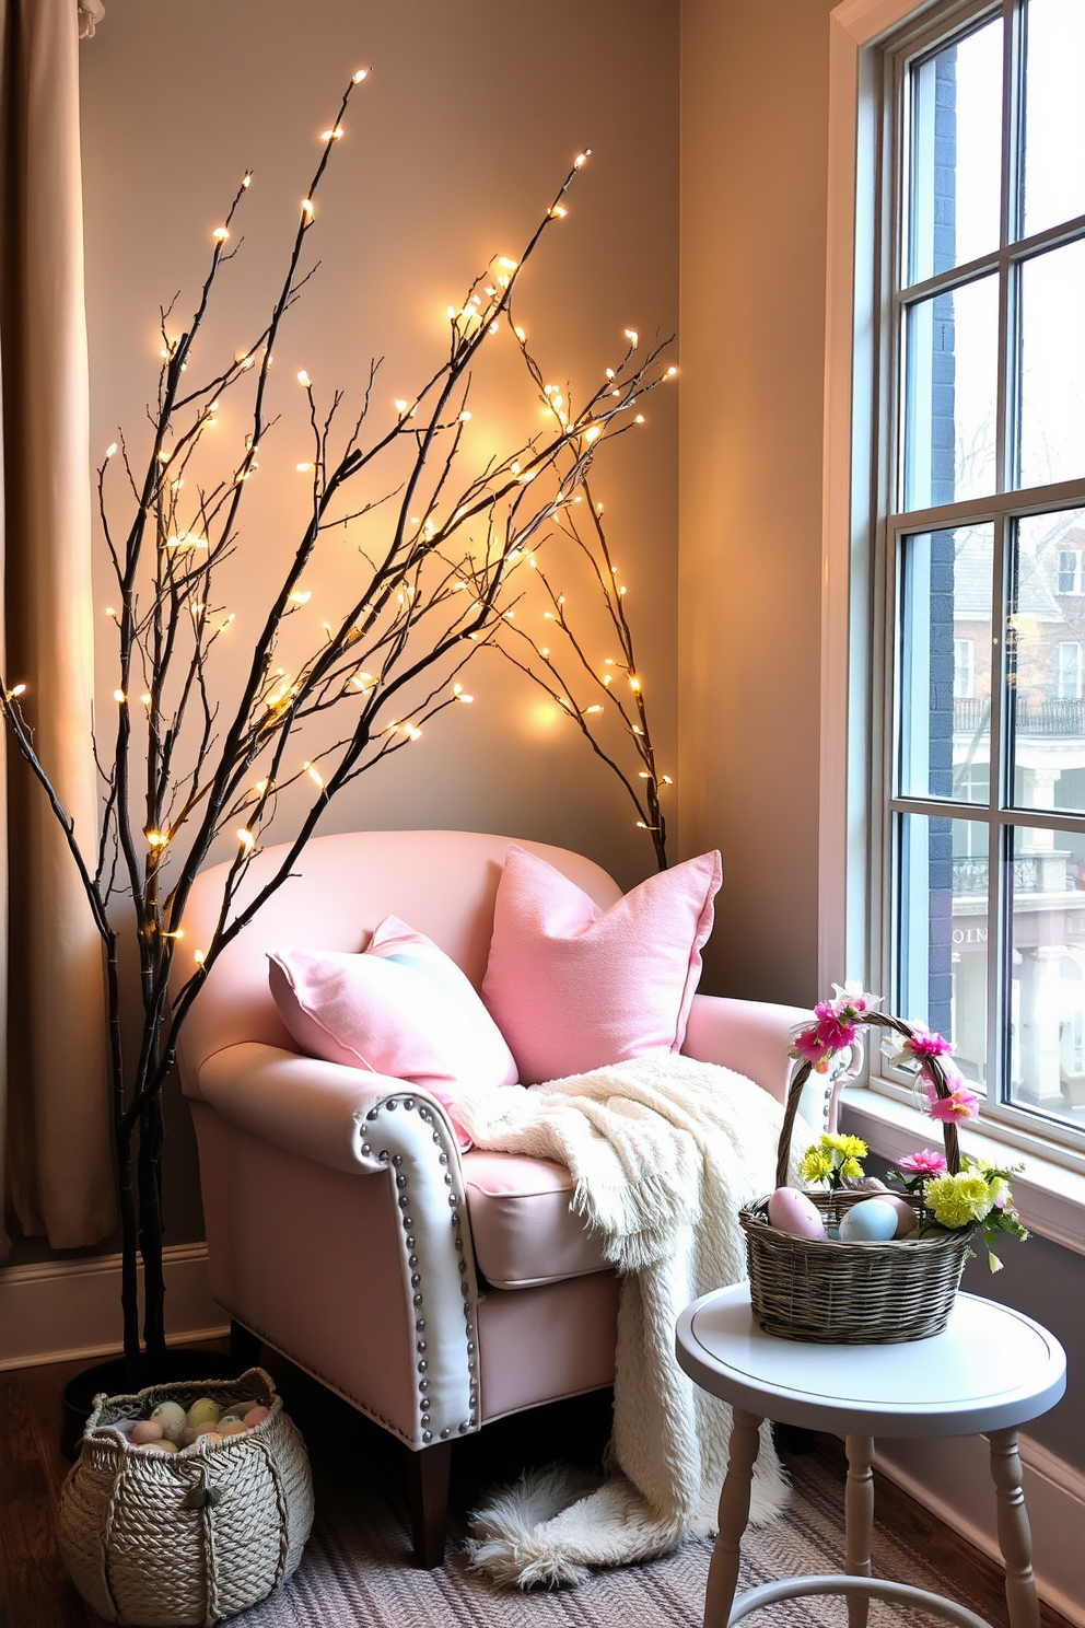
M 883 1013 L 869 1013 L 865 1021 L 911 1034 L 908 1024 Z M 930 1073 L 939 1096 L 948 1096 L 937 1058 Z M 791 1136 L 808 1076 L 810 1063 L 802 1063 L 787 1092 L 776 1159 L 778 1187 L 787 1184 Z M 955 1175 L 960 1171 L 956 1127 L 943 1125 L 942 1130 L 945 1162 Z M 823 1221 L 839 1224 L 852 1205 L 877 1193 L 867 1188 L 807 1197 Z M 927 1226 L 930 1218 L 922 1205 L 909 1201 L 921 1228 Z M 768 1197 L 742 1210 L 739 1219 L 747 1236 L 750 1304 L 766 1333 L 815 1345 L 898 1345 L 926 1340 L 945 1328 L 968 1258 L 970 1228 L 955 1232 L 935 1228 L 919 1239 L 888 1244 L 794 1237 L 768 1224 Z

